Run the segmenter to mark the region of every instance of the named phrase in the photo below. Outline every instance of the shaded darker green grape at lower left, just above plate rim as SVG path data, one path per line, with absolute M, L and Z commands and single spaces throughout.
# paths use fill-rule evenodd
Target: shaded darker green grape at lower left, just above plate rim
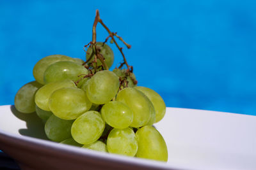
M 63 120 L 55 115 L 51 115 L 45 123 L 45 134 L 49 139 L 56 142 L 71 138 L 73 122 L 73 120 Z

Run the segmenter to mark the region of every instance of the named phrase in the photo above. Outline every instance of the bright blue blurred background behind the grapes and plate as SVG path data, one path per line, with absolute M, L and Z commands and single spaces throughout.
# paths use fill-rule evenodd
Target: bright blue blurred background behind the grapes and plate
M 84 59 L 95 10 L 167 106 L 256 115 L 256 1 L 0 1 L 0 104 L 42 57 Z M 98 25 L 97 40 L 107 32 Z M 122 42 L 120 42 L 121 46 Z M 113 47 L 115 64 L 122 56 Z

